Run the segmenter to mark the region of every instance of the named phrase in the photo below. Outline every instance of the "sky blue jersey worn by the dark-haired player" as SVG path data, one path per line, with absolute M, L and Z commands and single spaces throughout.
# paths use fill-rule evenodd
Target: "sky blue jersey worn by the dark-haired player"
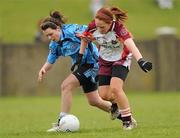
M 60 56 L 70 56 L 72 59 L 72 64 L 76 62 L 77 55 L 80 50 L 80 38 L 76 37 L 76 33 L 82 33 L 85 31 L 87 26 L 77 25 L 77 24 L 64 24 L 61 27 L 62 33 L 60 34 L 60 41 L 51 41 L 49 44 L 49 55 L 47 57 L 47 62 L 50 64 L 55 63 L 55 61 Z M 97 63 L 98 59 L 98 49 L 93 43 L 89 43 L 86 47 L 82 64 L 94 64 Z

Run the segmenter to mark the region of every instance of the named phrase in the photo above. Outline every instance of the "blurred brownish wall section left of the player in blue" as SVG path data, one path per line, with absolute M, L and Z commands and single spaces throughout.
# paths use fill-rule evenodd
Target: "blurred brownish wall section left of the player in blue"
M 47 58 L 47 44 L 1 45 L 0 51 L 1 95 L 54 95 L 70 72 L 67 68 L 69 59 L 57 61 L 43 83 L 39 84 L 37 77 Z

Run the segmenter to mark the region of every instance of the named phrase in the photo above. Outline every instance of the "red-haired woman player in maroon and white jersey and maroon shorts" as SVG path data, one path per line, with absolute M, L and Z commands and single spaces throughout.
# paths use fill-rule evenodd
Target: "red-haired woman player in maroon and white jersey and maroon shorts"
M 124 26 L 126 19 L 127 12 L 117 7 L 103 7 L 98 10 L 88 29 L 79 34 L 79 53 L 83 54 L 88 41 L 94 41 L 98 45 L 99 94 L 103 99 L 117 103 L 123 129 L 131 130 L 137 123 L 132 118 L 123 84 L 130 69 L 132 55 L 145 72 L 152 69 L 152 63 L 143 59 L 130 32 Z

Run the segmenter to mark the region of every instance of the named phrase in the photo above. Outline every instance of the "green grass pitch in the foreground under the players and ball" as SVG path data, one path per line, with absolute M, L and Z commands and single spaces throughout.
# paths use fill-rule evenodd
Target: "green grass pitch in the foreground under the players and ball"
M 128 93 L 138 128 L 123 131 L 118 120 L 87 105 L 75 95 L 72 113 L 80 120 L 76 133 L 52 133 L 46 130 L 59 111 L 59 97 L 0 98 L 1 138 L 179 138 L 180 93 Z

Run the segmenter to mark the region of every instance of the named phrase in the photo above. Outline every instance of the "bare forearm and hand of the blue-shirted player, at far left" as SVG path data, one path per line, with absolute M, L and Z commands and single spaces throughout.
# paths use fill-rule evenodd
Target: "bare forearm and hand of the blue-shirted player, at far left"
M 48 63 L 48 62 L 46 62 L 46 63 L 42 66 L 42 68 L 40 69 L 39 74 L 38 74 L 38 81 L 39 81 L 39 82 L 41 82 L 41 81 L 43 80 L 44 75 L 46 74 L 46 72 L 47 72 L 48 70 L 50 70 L 50 69 L 52 68 L 52 66 L 53 66 L 53 64 L 50 64 L 50 63 Z

